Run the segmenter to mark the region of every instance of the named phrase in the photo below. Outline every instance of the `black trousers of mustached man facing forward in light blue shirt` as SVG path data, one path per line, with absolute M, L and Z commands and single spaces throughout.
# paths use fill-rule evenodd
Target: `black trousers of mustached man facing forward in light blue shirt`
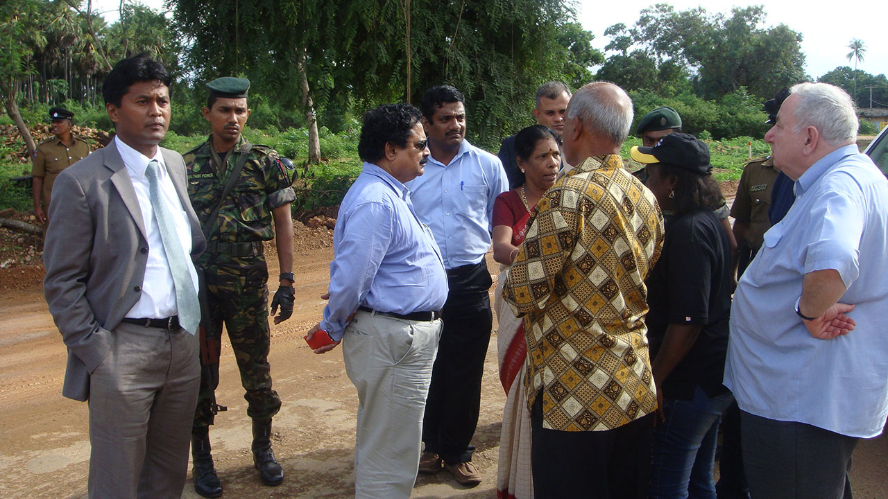
M 423 417 L 425 450 L 446 463 L 472 461 L 475 450 L 469 444 L 478 426 L 481 376 L 493 328 L 491 284 L 484 260 L 448 270 L 444 329 Z

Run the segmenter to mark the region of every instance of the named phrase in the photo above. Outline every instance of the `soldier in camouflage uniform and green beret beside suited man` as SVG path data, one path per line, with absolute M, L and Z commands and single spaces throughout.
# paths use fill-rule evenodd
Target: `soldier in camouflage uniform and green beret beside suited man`
M 207 249 L 196 264 L 206 280 L 209 321 L 207 337 L 218 338 L 225 323 L 241 383 L 246 390 L 247 415 L 253 420 L 253 460 L 266 485 L 283 481 L 281 465 L 271 449 L 272 416 L 281 399 L 272 390 L 268 351 L 268 269 L 262 242 L 275 239 L 281 265 L 280 288 L 274 294 L 277 324 L 293 312 L 293 221 L 289 203 L 296 199 L 289 173 L 274 149 L 253 146 L 241 136 L 250 109 L 246 78 L 218 78 L 207 83 L 210 97 L 202 112 L 212 126 L 206 142 L 185 155 L 188 195 L 204 227 Z M 242 156 L 247 154 L 246 158 Z M 228 178 L 242 162 L 230 194 L 222 196 Z M 213 212 L 218 208 L 218 215 Z M 210 218 L 215 218 L 211 220 Z M 274 231 L 272 226 L 274 224 Z M 202 342 L 202 346 L 204 343 Z M 202 356 L 202 360 L 206 360 Z M 192 455 L 194 490 L 204 497 L 222 495 L 222 484 L 210 455 L 209 426 L 217 411 L 214 391 L 218 361 L 204 362 L 201 392 L 194 413 Z

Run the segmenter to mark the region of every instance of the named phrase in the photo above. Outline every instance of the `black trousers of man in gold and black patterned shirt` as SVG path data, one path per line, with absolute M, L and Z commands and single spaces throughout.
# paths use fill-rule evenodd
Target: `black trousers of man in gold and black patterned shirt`
M 654 414 L 605 432 L 543 428 L 543 395 L 530 410 L 535 499 L 646 499 Z

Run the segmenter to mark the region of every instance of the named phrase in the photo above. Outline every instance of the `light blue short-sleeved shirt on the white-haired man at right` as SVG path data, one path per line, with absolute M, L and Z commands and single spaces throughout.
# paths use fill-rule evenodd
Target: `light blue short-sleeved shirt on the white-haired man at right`
M 725 385 L 744 411 L 859 438 L 888 416 L 888 180 L 856 146 L 805 171 L 796 202 L 733 298 Z M 835 269 L 856 305 L 846 336 L 821 340 L 795 313 L 805 273 Z

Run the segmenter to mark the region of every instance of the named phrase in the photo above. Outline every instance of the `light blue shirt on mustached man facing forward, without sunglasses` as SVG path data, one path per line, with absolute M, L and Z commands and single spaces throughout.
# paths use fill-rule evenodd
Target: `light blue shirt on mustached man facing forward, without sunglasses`
M 503 162 L 463 140 L 450 164 L 429 156 L 407 183 L 419 219 L 432 227 L 449 270 L 477 264 L 490 249 L 496 196 L 509 190 Z

